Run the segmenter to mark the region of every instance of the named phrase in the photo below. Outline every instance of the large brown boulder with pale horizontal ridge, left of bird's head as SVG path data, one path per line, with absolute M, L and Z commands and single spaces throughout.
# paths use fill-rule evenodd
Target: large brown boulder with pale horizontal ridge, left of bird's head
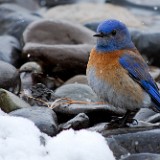
M 86 72 L 89 53 L 95 44 L 93 34 L 67 21 L 37 21 L 23 34 L 23 56 L 42 63 L 45 72 L 66 80 Z

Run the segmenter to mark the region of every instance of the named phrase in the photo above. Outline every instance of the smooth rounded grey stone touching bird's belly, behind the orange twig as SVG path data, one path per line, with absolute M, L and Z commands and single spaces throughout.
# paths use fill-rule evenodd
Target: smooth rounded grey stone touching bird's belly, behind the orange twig
M 66 84 L 56 89 L 57 97 L 70 98 L 77 101 L 99 102 L 93 90 L 85 84 Z

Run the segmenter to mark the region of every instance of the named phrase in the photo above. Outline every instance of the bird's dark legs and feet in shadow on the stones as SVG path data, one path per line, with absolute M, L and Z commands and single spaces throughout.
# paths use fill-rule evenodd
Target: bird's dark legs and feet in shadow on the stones
M 128 124 L 132 124 L 135 119 L 133 117 L 137 113 L 136 111 L 127 111 L 127 113 L 122 118 L 116 118 L 111 121 L 109 124 L 109 128 L 122 128 L 122 127 L 128 127 Z M 137 122 L 137 121 L 136 121 Z

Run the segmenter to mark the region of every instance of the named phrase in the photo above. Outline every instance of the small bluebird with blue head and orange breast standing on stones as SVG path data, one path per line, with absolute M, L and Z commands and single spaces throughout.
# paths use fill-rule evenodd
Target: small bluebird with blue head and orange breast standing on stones
M 120 126 L 132 112 L 147 107 L 160 111 L 159 88 L 132 42 L 127 26 L 116 19 L 102 21 L 87 64 L 87 80 L 103 102 L 125 110 Z

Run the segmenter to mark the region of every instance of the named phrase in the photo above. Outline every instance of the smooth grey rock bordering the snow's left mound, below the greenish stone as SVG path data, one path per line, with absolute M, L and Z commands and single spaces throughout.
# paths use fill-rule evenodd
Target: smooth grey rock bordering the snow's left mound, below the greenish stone
M 11 116 L 19 116 L 30 119 L 34 124 L 49 136 L 55 136 L 58 132 L 57 116 L 47 107 L 22 108 L 9 113 Z

